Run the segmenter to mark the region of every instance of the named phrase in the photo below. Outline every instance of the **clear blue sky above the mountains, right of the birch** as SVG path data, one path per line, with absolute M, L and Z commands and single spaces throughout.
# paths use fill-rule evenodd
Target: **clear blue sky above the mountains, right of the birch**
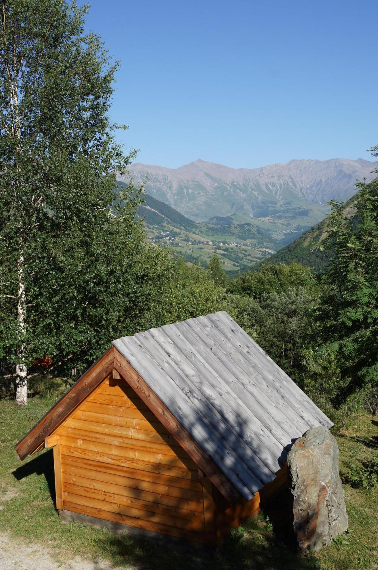
M 93 0 L 120 59 L 112 119 L 135 161 L 254 168 L 378 143 L 378 4 Z

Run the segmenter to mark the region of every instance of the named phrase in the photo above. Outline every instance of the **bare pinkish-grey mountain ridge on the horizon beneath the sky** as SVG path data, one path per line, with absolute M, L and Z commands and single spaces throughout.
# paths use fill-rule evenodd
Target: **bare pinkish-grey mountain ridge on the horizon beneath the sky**
M 310 227 L 327 214 L 326 202 L 348 200 L 355 193 L 356 179 L 372 180 L 374 168 L 375 162 L 363 158 L 291 160 L 254 169 L 198 159 L 176 169 L 137 163 L 130 166 L 130 173 L 135 184 L 147 178 L 150 196 L 196 222 L 233 215 L 238 221 L 274 223 L 274 218 L 299 214 L 299 225 Z M 307 217 L 308 223 L 303 223 Z

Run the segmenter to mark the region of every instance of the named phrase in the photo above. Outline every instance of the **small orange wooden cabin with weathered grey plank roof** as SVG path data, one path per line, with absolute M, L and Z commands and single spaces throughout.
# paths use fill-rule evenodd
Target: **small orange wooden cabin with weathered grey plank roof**
M 287 486 L 287 451 L 318 425 L 221 311 L 114 340 L 16 450 L 54 447 L 64 519 L 218 545 Z

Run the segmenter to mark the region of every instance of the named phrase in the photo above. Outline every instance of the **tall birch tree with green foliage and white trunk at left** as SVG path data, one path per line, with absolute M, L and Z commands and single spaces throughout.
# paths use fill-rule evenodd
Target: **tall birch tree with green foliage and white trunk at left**
M 88 349 L 88 337 L 77 339 L 77 323 L 91 314 L 93 325 L 96 305 L 102 307 L 96 322 L 107 323 L 105 253 L 109 258 L 112 237 L 129 253 L 134 243 L 139 259 L 145 247 L 134 222 L 137 198 L 127 190 L 123 243 L 109 230 L 115 173 L 125 171 L 133 153 L 124 156 L 114 139 L 108 110 L 117 63 L 98 36 L 84 34 L 86 12 L 75 1 L 1 4 L 0 357 L 15 366 L 20 405 L 27 404 L 27 367 L 46 347 L 56 360 L 75 353 L 75 337 L 76 348 Z M 140 276 L 135 263 L 133 275 Z

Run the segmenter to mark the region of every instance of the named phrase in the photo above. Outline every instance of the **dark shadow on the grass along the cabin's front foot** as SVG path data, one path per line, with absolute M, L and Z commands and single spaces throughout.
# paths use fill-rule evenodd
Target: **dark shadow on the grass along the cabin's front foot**
M 287 489 L 245 523 L 244 536 L 230 535 L 217 551 L 189 542 L 131 538 L 127 532 L 107 535 L 106 541 L 115 561 L 133 561 L 154 570 L 317 570 L 318 559 L 298 551 L 292 512 L 293 499 Z

